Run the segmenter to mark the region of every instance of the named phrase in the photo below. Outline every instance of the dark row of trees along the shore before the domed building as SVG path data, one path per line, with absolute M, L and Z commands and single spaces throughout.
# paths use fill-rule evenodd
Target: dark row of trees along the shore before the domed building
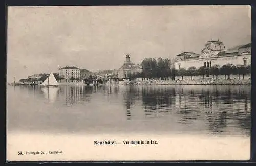
M 189 67 L 188 69 L 180 68 L 178 70 L 170 67 L 170 63 L 166 64 L 166 60 L 160 60 L 158 63 L 146 63 L 146 67 L 143 68 L 143 71 L 140 73 L 133 73 L 129 75 L 129 78 L 134 80 L 136 78 L 172 78 L 175 80 L 176 76 L 181 76 L 183 80 L 183 76 L 190 76 L 191 80 L 194 79 L 194 76 L 201 76 L 202 79 L 205 78 L 205 75 L 209 77 L 211 75 L 213 78 L 217 79 L 219 75 L 225 75 L 225 79 L 230 79 L 230 75 L 238 75 L 238 78 L 244 79 L 244 75 L 251 73 L 251 66 L 236 66 L 232 64 L 226 64 L 220 67 L 220 65 L 214 65 L 210 68 L 201 66 L 196 68 L 194 66 Z M 166 67 L 167 66 L 167 67 Z

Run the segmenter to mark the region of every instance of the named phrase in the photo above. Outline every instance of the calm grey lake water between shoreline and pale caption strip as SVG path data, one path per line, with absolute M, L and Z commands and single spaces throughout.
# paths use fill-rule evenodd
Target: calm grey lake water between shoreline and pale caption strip
M 250 137 L 250 86 L 7 87 L 7 131 Z

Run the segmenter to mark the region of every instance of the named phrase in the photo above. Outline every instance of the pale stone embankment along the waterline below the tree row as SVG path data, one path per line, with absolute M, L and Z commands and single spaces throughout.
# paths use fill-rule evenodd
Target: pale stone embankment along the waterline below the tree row
M 123 85 L 251 85 L 251 80 L 236 79 L 205 79 L 205 80 L 147 80 L 147 81 L 126 81 Z

